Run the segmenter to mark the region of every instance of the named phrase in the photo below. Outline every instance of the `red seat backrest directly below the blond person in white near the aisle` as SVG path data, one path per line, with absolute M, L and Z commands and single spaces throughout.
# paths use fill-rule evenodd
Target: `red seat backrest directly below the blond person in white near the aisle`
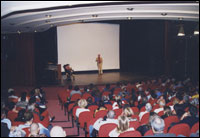
M 93 119 L 93 113 L 92 112 L 82 112 L 79 115 L 79 123 L 80 123 L 80 127 L 84 128 L 84 123 L 88 123 L 91 119 Z M 87 127 L 87 126 L 86 126 Z

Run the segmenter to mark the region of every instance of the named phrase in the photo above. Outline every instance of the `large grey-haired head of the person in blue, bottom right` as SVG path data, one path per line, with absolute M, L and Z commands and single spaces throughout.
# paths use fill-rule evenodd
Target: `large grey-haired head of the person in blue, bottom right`
M 163 133 L 163 130 L 165 128 L 165 122 L 162 118 L 159 116 L 156 116 L 151 121 L 151 127 L 153 130 L 153 133 Z

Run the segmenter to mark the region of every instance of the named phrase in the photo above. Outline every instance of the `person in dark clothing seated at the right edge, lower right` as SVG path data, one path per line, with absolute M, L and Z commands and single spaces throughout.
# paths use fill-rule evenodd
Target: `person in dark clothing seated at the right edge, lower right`
M 186 123 L 192 128 L 192 126 L 199 121 L 198 109 L 197 107 L 191 105 L 188 112 L 185 112 L 182 117 L 180 118 L 180 124 Z

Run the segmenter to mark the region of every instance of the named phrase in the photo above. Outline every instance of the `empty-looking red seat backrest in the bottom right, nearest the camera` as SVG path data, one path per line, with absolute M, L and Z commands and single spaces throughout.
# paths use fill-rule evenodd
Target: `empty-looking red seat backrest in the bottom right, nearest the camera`
M 188 124 L 182 123 L 182 124 L 177 124 L 170 128 L 168 133 L 175 134 L 176 136 L 178 135 L 184 135 L 186 137 L 190 136 L 190 126 Z

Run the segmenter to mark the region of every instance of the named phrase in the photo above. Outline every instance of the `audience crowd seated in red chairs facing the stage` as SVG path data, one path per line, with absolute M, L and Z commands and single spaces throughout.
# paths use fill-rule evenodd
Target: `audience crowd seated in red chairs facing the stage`
M 102 125 L 113 123 L 117 125 L 117 128 L 113 129 L 109 136 L 118 137 L 124 132 L 135 130 L 135 128 L 130 127 L 132 121 L 140 122 L 146 113 L 150 113 L 147 120 L 149 123 L 140 125 L 136 130 L 142 136 L 147 131 L 152 130 L 154 135 L 150 137 L 172 137 L 175 135 L 163 133 L 165 118 L 173 115 L 180 120 L 177 123 L 172 123 L 168 130 L 172 126 L 182 123 L 186 123 L 192 128 L 195 123 L 199 122 L 198 85 L 190 79 L 177 81 L 172 77 L 163 76 L 131 84 L 121 85 L 121 83 L 117 83 L 112 86 L 107 84 L 102 89 L 90 84 L 88 87 L 84 87 L 83 94 L 79 86 L 75 86 L 72 90 L 73 86 L 71 85 L 70 90 L 67 89 L 59 96 L 61 96 L 61 99 L 68 99 L 70 102 L 70 97 L 74 94 L 83 95 L 82 99 L 77 100 L 73 106 L 74 108 L 78 105 L 75 112 L 76 117 L 79 117 L 83 112 L 90 111 L 87 109 L 88 107 L 98 105 L 98 109 L 92 111 L 94 118 L 91 118 L 91 120 L 95 119 L 95 121 L 91 124 L 92 127 L 88 126 L 91 132 L 97 132 L 97 135 L 92 136 L 98 136 L 98 131 Z M 109 92 L 109 95 L 102 95 L 103 92 Z M 125 99 L 125 97 L 129 98 Z M 21 93 L 20 98 L 16 96 L 14 89 L 9 89 L 5 101 L 1 107 L 1 136 L 50 137 L 51 135 L 52 137 L 66 137 L 63 128 L 59 126 L 51 128 L 50 121 L 52 119 L 46 106 L 45 92 L 40 87 L 33 89 L 30 95 L 27 95 L 26 92 Z M 112 110 L 109 111 L 105 105 L 111 106 Z M 139 110 L 143 110 L 143 107 L 145 107 L 145 111 L 134 113 L 131 107 Z M 154 112 L 151 112 L 152 109 Z M 102 110 L 106 111 L 107 115 L 96 118 L 96 113 Z M 162 116 L 159 114 L 161 111 L 164 112 Z M 115 119 L 117 116 L 119 116 L 118 119 Z M 138 117 L 139 120 L 136 119 Z M 198 136 L 198 132 L 191 136 Z

